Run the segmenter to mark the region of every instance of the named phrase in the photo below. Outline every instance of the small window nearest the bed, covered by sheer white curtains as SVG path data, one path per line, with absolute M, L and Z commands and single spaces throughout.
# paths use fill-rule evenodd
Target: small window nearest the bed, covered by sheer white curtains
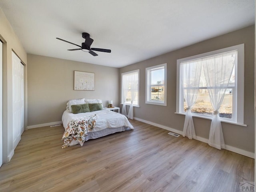
M 122 104 L 139 106 L 139 73 L 140 70 L 134 70 L 122 73 Z

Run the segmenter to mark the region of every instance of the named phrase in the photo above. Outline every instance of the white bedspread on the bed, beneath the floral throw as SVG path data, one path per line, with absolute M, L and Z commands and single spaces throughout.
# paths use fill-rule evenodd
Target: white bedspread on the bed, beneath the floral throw
M 70 113 L 69 110 L 66 110 L 62 115 L 63 126 L 66 129 L 68 126 L 68 122 L 70 122 L 70 120 L 94 114 L 98 115 L 98 119 L 96 120 L 95 128 L 92 130 L 93 132 L 103 130 L 106 128 L 117 128 L 122 126 L 129 127 L 132 130 L 134 129 L 134 127 L 132 126 L 132 124 L 130 124 L 126 116 L 107 109 L 78 114 L 73 114 Z

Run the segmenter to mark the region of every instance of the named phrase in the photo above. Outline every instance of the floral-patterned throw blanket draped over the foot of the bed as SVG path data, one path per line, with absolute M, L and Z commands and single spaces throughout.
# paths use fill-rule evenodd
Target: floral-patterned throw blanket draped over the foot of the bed
M 72 119 L 68 122 L 68 127 L 62 136 L 62 141 L 64 141 L 62 148 L 68 147 L 72 140 L 79 142 L 83 146 L 87 133 L 94 129 L 97 118 L 98 116 L 95 114 L 79 119 Z

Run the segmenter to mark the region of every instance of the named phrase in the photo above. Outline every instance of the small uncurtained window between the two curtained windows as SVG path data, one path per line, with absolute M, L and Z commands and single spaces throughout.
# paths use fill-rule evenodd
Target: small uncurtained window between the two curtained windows
M 167 64 L 146 68 L 146 103 L 166 106 Z

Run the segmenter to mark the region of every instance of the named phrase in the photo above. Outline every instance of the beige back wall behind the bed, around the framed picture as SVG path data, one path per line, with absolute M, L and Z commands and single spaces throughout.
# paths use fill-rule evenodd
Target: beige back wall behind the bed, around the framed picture
M 28 126 L 61 121 L 70 99 L 119 104 L 118 68 L 28 54 Z M 74 90 L 74 71 L 95 73 L 95 90 Z

